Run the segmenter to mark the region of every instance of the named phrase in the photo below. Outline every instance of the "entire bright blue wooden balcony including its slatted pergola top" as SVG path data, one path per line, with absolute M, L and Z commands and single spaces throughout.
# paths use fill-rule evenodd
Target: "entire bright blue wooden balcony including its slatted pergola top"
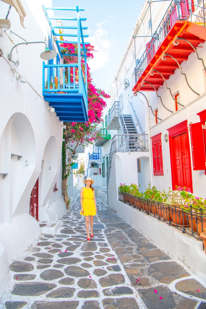
M 65 8 L 45 7 L 43 5 L 42 7 L 60 57 L 63 59 L 64 55 L 71 56 L 69 53 L 62 54 L 62 49 L 65 49 L 62 47 L 62 43 L 77 44 L 78 46 L 77 55 L 72 55 L 74 59 L 76 57 L 77 61 L 74 61 L 76 63 L 60 64 L 60 61 L 55 61 L 57 64 L 54 64 L 52 61 L 50 64 L 45 64 L 43 62 L 44 100 L 48 102 L 49 106 L 55 108 L 55 112 L 60 121 L 86 122 L 88 121 L 87 70 L 82 74 L 82 65 L 86 67 L 85 44 L 89 43 L 84 42 L 84 37 L 88 35 L 84 35 L 83 30 L 87 29 L 87 27 L 82 27 L 81 24 L 86 18 L 80 18 L 79 13 L 79 11 L 84 11 L 84 9 L 79 9 L 78 6 L 76 8 Z M 50 11 L 49 15 L 52 17 L 48 16 L 48 11 Z M 53 11 L 53 14 L 51 14 L 51 11 Z M 69 11 L 70 14 L 76 11 L 77 17 L 58 17 L 55 14 L 56 11 L 65 11 L 65 13 Z M 71 26 L 68 23 L 72 23 Z M 59 29 L 62 29 L 62 31 L 60 32 Z M 67 31 L 73 33 L 66 33 Z M 57 37 L 60 37 L 60 40 L 57 40 Z M 61 40 L 62 37 L 63 40 Z M 73 39 L 76 37 L 77 41 L 69 41 L 69 37 Z M 52 46 L 53 43 L 51 44 L 51 48 Z M 81 61 L 82 57 L 84 61 Z

